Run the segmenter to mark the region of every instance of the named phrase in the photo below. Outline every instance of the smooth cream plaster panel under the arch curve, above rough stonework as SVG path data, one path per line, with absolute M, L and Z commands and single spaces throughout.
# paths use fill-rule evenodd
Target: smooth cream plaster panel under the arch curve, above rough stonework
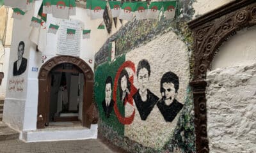
M 242 29 L 223 43 L 212 61 L 212 70 L 245 66 L 256 60 L 256 26 Z

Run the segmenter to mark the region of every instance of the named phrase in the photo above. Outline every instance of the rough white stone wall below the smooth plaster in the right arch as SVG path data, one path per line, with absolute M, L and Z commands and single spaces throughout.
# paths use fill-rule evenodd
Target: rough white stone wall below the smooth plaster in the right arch
M 211 152 L 256 152 L 256 62 L 207 74 Z

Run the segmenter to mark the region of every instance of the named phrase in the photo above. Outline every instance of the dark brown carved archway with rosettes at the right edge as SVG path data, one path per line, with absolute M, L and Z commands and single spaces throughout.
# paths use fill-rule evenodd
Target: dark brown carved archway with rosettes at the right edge
M 205 82 L 207 69 L 218 48 L 237 31 L 256 25 L 256 1 L 237 0 L 188 23 L 193 31 L 193 99 L 195 105 L 196 152 L 209 152 Z

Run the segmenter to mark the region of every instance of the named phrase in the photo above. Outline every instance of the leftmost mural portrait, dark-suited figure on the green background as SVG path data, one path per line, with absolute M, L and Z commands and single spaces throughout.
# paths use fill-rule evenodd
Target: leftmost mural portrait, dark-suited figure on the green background
M 105 82 L 105 99 L 102 101 L 102 108 L 107 118 L 110 117 L 110 114 L 114 106 L 114 101 L 111 98 L 112 87 L 113 87 L 112 78 L 108 76 Z

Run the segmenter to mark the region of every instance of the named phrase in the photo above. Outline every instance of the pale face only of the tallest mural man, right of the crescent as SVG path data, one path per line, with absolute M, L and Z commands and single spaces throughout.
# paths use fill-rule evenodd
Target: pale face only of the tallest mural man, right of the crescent
M 147 90 L 147 83 L 149 80 L 148 70 L 146 68 L 140 69 L 138 73 L 138 83 L 140 91 L 145 92 Z

